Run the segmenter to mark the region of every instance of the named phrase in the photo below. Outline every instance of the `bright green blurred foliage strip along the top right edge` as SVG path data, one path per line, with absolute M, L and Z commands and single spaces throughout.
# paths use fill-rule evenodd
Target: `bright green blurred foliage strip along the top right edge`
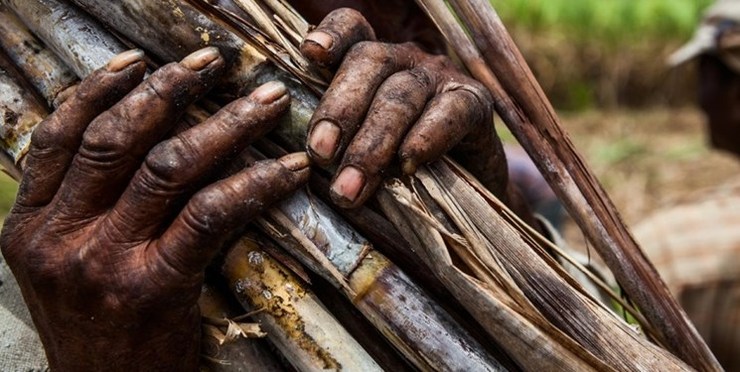
M 491 0 L 507 25 L 611 43 L 686 39 L 713 0 Z

